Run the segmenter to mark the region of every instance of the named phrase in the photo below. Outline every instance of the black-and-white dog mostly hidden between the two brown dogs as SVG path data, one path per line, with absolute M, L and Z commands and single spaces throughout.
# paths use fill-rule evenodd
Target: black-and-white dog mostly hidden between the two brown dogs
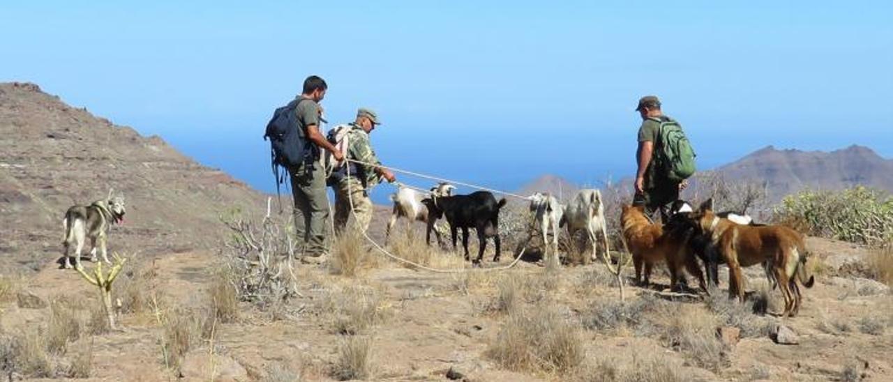
M 699 207 L 701 209 L 709 207 L 711 210 L 714 209 L 713 198 L 707 199 L 705 203 Z M 681 237 L 686 235 L 687 233 L 692 233 L 692 237 L 689 240 L 689 245 L 691 250 L 697 255 L 701 262 L 704 262 L 704 270 L 707 275 L 707 281 L 713 286 L 719 286 L 719 264 L 724 263 L 722 257 L 719 255 L 719 251 L 711 245 L 710 237 L 704 235 L 694 235 L 694 230 L 697 228 L 694 221 L 690 220 L 690 215 L 694 212 L 694 208 L 691 207 L 689 202 L 684 200 L 677 200 L 673 202 L 670 206 L 670 210 L 668 211 L 669 220 L 663 225 L 663 229 L 666 231 L 673 232 L 674 235 Z M 742 212 L 716 212 L 716 215 L 722 219 L 728 219 L 736 224 L 746 225 L 746 226 L 763 226 L 763 224 L 758 224 L 754 222 L 754 219 L 751 218 L 746 213 Z M 764 264 L 764 269 L 766 271 L 766 276 L 769 279 L 770 285 L 774 288 L 774 281 L 772 277 L 772 271 L 769 269 L 768 264 Z

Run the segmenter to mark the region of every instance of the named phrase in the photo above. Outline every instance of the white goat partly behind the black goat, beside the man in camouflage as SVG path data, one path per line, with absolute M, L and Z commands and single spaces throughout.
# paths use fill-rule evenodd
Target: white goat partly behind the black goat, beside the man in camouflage
M 448 183 L 439 183 L 435 187 L 431 187 L 431 195 L 449 196 L 453 195 L 455 186 Z M 435 225 L 437 219 L 430 219 L 430 209 L 426 203 L 422 203 L 422 195 L 409 187 L 399 185 L 397 192 L 391 195 L 391 201 L 394 202 L 394 208 L 391 211 L 391 217 L 388 220 L 388 228 L 385 230 L 385 245 L 388 244 L 391 228 L 394 228 L 398 218 L 406 218 L 411 221 L 421 221 L 426 224 L 425 243 L 431 243 L 431 231 L 438 239 L 438 245 L 442 245 L 440 240 L 440 230 Z

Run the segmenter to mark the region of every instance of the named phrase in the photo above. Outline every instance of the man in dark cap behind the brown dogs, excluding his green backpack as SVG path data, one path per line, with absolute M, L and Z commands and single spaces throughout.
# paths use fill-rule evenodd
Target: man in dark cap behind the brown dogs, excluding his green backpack
M 688 186 L 688 182 L 672 181 L 655 166 L 652 158 L 655 154 L 655 142 L 659 141 L 661 122 L 672 120 L 661 112 L 661 101 L 656 95 L 646 95 L 638 100 L 636 111 L 642 117 L 642 126 L 638 128 L 638 150 L 636 151 L 636 195 L 633 205 L 644 205 L 645 213 L 650 218 L 655 211 L 661 212 L 661 220 L 666 221 L 670 205 L 679 199 L 680 189 Z

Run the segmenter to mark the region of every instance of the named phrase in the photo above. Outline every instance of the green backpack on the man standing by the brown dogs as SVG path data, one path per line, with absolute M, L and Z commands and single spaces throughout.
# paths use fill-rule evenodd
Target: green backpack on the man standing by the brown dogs
M 689 179 L 695 173 L 696 156 L 689 138 L 685 137 L 679 122 L 662 119 L 660 123 L 657 134 L 663 173 L 674 182 Z

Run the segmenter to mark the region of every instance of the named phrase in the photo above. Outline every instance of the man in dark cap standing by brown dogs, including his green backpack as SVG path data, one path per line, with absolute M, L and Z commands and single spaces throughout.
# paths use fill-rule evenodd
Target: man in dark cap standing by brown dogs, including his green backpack
M 650 218 L 661 212 L 666 222 L 670 204 L 679 199 L 680 190 L 688 186 L 695 172 L 695 153 L 679 122 L 663 115 L 661 102 L 655 95 L 638 100 L 636 111 L 642 117 L 638 129 L 636 151 L 636 195 L 633 205 L 644 205 Z

